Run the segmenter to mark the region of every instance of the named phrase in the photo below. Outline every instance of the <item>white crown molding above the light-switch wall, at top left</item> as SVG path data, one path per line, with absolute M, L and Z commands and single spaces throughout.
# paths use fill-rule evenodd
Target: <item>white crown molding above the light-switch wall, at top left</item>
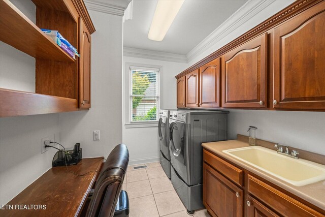
M 124 16 L 124 11 L 132 0 L 84 0 L 88 10 Z

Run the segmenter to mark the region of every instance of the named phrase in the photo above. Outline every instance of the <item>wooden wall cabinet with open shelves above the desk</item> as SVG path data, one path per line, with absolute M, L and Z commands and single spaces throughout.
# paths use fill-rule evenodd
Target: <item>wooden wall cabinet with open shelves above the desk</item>
M 36 23 L 9 0 L 0 1 L 0 40 L 36 59 L 35 92 L 0 88 L 0 117 L 90 108 L 90 34 L 95 29 L 83 1 L 30 4 L 36 6 Z M 40 28 L 58 30 L 80 58 L 69 56 Z

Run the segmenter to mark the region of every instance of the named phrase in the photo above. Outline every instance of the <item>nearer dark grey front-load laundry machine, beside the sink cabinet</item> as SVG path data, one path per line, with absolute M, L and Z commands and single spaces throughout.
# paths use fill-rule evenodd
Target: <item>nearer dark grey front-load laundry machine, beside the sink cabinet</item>
M 170 111 L 169 147 L 172 184 L 188 213 L 203 208 L 204 142 L 228 139 L 229 111 Z

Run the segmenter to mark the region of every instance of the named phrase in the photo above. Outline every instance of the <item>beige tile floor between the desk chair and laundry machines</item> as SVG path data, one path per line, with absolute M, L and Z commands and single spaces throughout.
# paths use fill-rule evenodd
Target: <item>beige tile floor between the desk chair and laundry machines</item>
M 133 169 L 144 165 L 147 168 Z M 123 190 L 128 194 L 130 217 L 190 216 L 159 162 L 128 166 Z M 201 209 L 194 216 L 210 215 Z

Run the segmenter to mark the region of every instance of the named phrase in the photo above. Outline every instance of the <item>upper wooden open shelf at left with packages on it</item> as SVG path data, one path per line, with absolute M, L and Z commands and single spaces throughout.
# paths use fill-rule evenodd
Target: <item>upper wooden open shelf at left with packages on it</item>
M 35 58 L 75 61 L 9 0 L 0 0 L 0 40 Z

